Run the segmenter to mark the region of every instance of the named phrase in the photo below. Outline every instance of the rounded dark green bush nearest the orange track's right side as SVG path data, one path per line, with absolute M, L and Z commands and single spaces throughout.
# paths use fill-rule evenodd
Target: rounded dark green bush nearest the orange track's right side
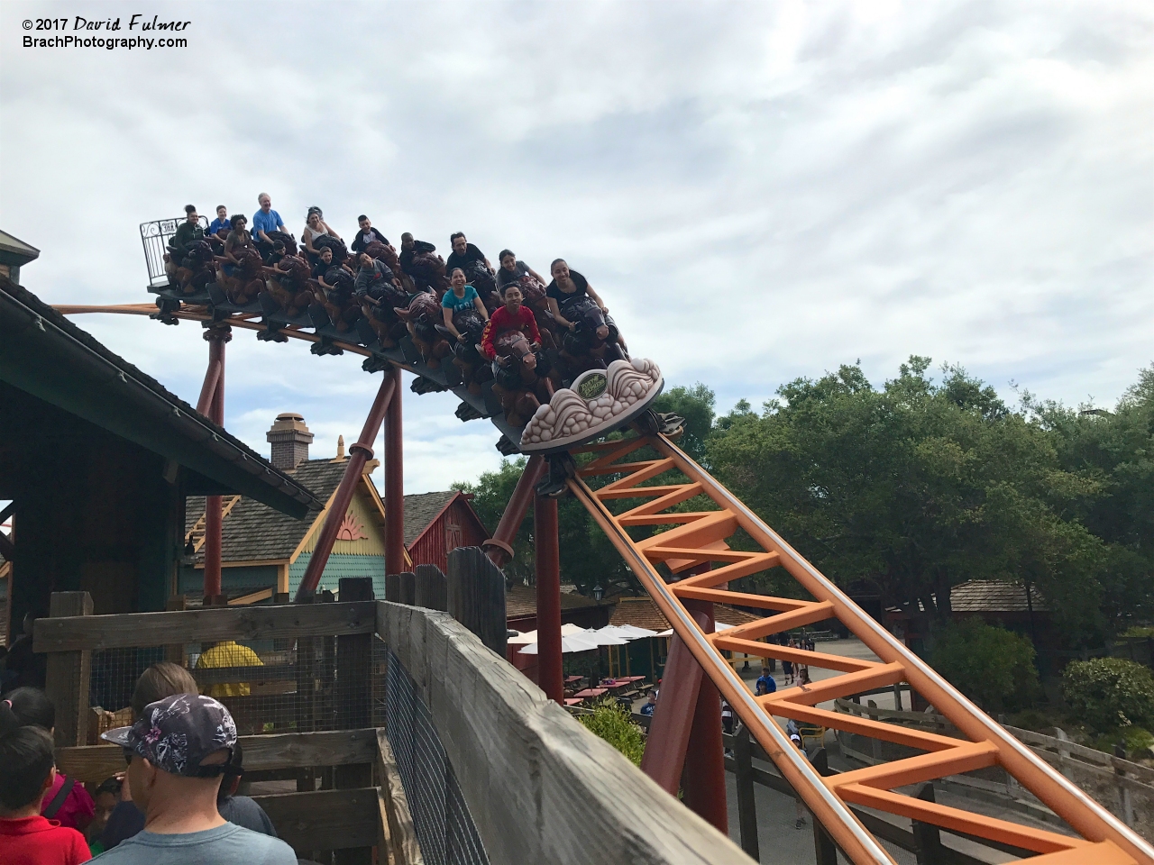
M 935 634 L 930 663 L 990 710 L 1024 708 L 1037 690 L 1033 644 L 980 618 L 950 623 Z

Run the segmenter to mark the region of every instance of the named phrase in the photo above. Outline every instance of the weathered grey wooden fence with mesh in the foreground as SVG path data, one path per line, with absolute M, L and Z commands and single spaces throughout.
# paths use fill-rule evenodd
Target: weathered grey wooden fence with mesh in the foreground
M 84 593 L 53 596 L 52 616 L 36 623 L 33 641 L 37 652 L 48 653 L 58 761 L 77 780 L 99 782 L 123 768 L 119 749 L 84 744 L 93 650 L 165 646 L 175 652 L 207 641 L 288 639 L 298 642 L 299 654 L 304 640 L 380 639 L 428 710 L 488 862 L 749 863 L 733 842 L 584 730 L 448 614 L 384 601 L 114 616 L 90 611 Z M 342 652 L 350 654 L 338 646 L 337 668 Z M 242 675 L 246 682 L 264 676 L 300 683 L 295 670 L 290 676 L 277 669 L 285 665 L 293 664 L 272 665 L 267 674 L 242 668 Z M 208 674 L 205 683 L 216 676 L 196 672 Z M 383 675 L 374 665 L 353 702 L 368 704 Z M 377 847 L 379 863 L 385 862 L 382 850 L 397 865 L 422 862 L 414 790 L 400 781 L 395 743 L 381 728 L 351 723 L 364 717 L 360 709 L 342 713 L 349 729 L 241 738 L 246 776 L 298 778 L 297 792 L 257 800 L 299 856 L 337 850 L 337 862 L 369 862 L 369 848 Z M 329 789 L 315 789 L 317 777 Z

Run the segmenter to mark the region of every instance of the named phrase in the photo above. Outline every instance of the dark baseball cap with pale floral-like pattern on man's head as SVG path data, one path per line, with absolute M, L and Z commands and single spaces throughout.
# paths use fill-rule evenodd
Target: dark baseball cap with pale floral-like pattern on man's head
M 232 760 L 237 724 L 228 709 L 211 697 L 174 694 L 150 702 L 132 727 L 108 730 L 100 738 L 172 775 L 216 777 Z M 201 766 L 204 758 L 222 749 L 228 750 L 224 764 Z

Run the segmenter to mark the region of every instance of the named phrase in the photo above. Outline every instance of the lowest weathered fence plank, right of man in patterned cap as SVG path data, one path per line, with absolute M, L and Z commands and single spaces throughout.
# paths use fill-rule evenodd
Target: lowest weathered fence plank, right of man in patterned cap
M 380 836 L 376 788 L 254 796 L 298 856 L 373 847 Z

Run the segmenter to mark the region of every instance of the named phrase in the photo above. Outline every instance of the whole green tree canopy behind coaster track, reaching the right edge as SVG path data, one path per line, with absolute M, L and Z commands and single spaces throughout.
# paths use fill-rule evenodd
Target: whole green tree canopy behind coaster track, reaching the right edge
M 657 411 L 685 418 L 681 446 L 802 555 L 885 604 L 950 616 L 968 579 L 1021 582 L 1044 596 L 1071 645 L 1154 615 L 1154 366 L 1114 412 L 1022 394 L 1011 408 L 958 366 L 912 356 L 882 386 L 860 364 L 714 415 L 697 383 Z M 490 528 L 523 460 L 456 484 Z M 612 476 L 599 479 L 608 482 Z M 562 579 L 579 591 L 638 589 L 580 505 L 561 501 Z M 507 569 L 531 578 L 532 516 Z M 773 579 L 784 578 L 775 572 Z M 780 591 L 781 587 L 778 587 Z

